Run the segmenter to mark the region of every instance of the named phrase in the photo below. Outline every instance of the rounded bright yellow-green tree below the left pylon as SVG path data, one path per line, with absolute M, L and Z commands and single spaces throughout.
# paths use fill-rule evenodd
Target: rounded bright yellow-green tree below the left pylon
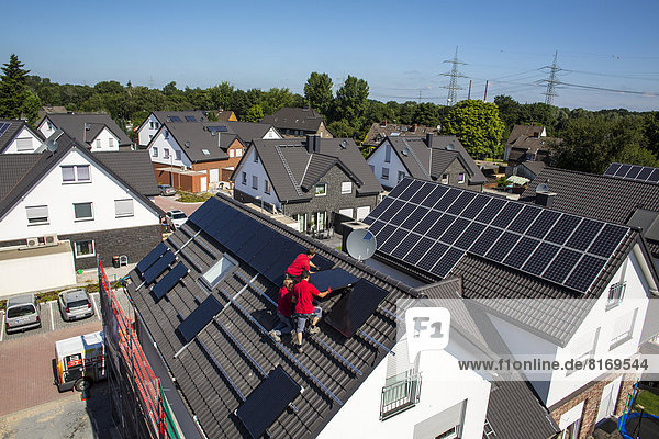
M 442 132 L 458 137 L 476 159 L 501 155 L 504 128 L 495 104 L 465 100 L 453 106 L 444 120 Z

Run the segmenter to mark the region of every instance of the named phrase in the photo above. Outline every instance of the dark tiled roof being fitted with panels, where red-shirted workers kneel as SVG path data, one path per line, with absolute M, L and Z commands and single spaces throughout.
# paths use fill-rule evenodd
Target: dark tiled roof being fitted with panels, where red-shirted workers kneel
M 305 336 L 304 352 L 293 354 L 268 330 L 283 273 L 310 246 L 322 269 L 311 282 L 333 294 L 321 302 L 321 334 Z M 213 438 L 315 437 L 393 348 L 395 301 L 418 296 L 223 195 L 136 266 L 129 293 L 189 412 Z M 526 386 L 498 389 L 488 415 L 495 428 L 512 416 L 512 398 L 524 402 L 529 438 L 555 432 Z

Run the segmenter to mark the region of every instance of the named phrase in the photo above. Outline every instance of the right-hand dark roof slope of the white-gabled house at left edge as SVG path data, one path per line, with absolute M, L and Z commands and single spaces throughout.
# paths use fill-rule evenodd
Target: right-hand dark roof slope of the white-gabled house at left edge
M 159 195 L 147 150 L 94 153 L 108 168 L 145 196 Z

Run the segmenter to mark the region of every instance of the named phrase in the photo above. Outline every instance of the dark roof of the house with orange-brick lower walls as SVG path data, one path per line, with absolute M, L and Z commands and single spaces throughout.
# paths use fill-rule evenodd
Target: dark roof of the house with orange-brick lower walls
M 169 131 L 181 150 L 192 162 L 214 161 L 228 159 L 227 149 L 237 139 L 237 135 L 230 132 L 212 132 L 209 126 L 227 126 L 226 122 L 197 122 L 180 123 L 165 122 L 163 130 Z M 154 136 L 154 139 L 156 136 Z M 217 145 L 220 138 L 220 145 Z M 152 139 L 152 143 L 154 140 Z M 239 142 L 239 140 L 238 140 Z M 208 151 L 208 154 L 205 153 Z

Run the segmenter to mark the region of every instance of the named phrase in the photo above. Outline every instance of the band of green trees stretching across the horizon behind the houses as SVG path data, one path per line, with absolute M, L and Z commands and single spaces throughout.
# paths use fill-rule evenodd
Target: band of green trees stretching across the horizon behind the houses
M 157 110 L 231 110 L 238 120 L 257 122 L 283 106 L 310 105 L 324 115 L 337 137 L 364 140 L 372 123 L 440 126 L 442 134 L 455 134 L 473 158 L 499 158 L 512 127 L 536 124 L 547 127 L 554 146 L 554 166 L 602 172 L 611 161 L 659 165 L 659 113 L 624 109 L 588 111 L 545 103 L 520 103 L 498 95 L 494 103 L 465 100 L 453 106 L 431 102 L 380 102 L 369 99 L 365 79 L 348 76 L 334 85 L 327 74 L 312 72 L 304 94 L 288 88 L 241 90 L 230 82 L 202 89 L 179 89 L 169 82 L 163 89 L 101 81 L 94 86 L 59 85 L 29 75 L 16 55 L 2 67 L 0 117 L 25 117 L 36 123 L 42 105 L 60 105 L 74 112 L 104 112 L 120 126 L 138 126 Z M 336 91 L 334 91 L 336 89 Z M 212 114 L 212 113 L 210 113 Z M 129 133 L 135 136 L 135 133 Z

